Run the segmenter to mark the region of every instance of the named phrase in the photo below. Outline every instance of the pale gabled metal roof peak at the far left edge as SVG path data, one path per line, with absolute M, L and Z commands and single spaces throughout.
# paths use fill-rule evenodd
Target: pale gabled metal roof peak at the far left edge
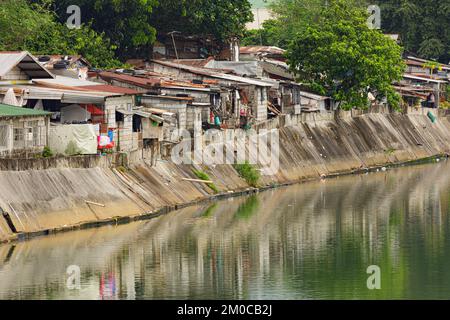
M 30 78 L 51 79 L 54 76 L 29 52 L 0 52 L 0 79 L 14 67 L 19 67 Z

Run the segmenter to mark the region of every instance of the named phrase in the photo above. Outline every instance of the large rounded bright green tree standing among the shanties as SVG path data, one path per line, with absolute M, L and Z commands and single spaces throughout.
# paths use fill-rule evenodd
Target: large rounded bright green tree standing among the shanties
M 347 0 L 329 0 L 317 21 L 296 34 L 288 62 L 299 80 L 332 96 L 344 109 L 366 108 L 371 92 L 397 107 L 392 83 L 402 78 L 402 48 L 367 26 L 365 9 Z

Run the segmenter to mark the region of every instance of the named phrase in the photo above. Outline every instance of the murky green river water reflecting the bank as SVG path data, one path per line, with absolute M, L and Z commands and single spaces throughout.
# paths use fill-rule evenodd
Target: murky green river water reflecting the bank
M 449 169 L 340 177 L 3 245 L 0 298 L 448 299 Z M 367 288 L 370 265 L 380 290 Z

